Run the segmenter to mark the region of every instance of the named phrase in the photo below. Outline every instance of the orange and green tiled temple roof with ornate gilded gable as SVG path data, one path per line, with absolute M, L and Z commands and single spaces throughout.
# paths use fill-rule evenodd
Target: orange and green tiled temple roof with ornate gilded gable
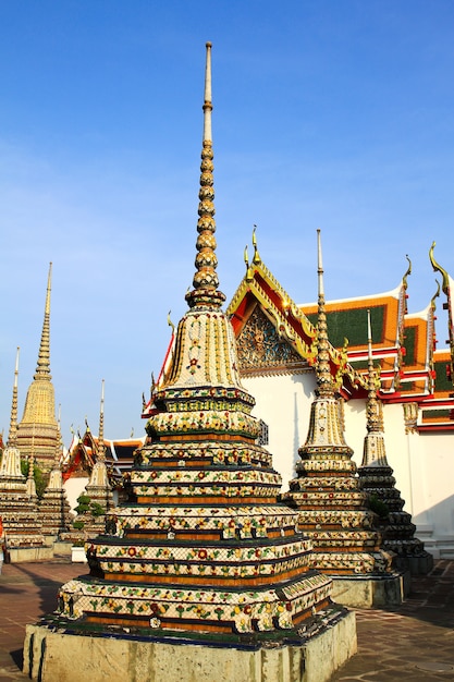
M 253 260 L 248 261 L 246 252 L 246 275 L 228 308 L 240 345 L 242 375 L 267 376 L 310 370 L 316 361 L 317 303 L 294 303 L 261 260 L 255 233 L 253 244 Z M 449 312 L 446 342 L 450 349 L 435 350 L 435 299 L 439 291 L 426 308 L 408 314 L 407 277 L 412 271 L 408 261 L 407 271 L 394 289 L 384 293 L 326 302 L 331 344 L 330 365 L 336 388 L 344 398 L 366 397 L 367 315 L 370 310 L 373 328 L 372 357 L 380 368 L 380 398 L 384 402 L 416 401 L 421 406 L 425 405 L 421 413 L 425 423 L 433 417 L 434 425 L 447 423 L 450 427 L 454 427 L 453 413 L 447 407 L 440 406 L 441 412 L 437 418 L 434 413 L 434 399 L 447 400 L 454 407 L 453 280 L 434 261 L 433 246 L 430 258 L 433 268 L 443 275 L 443 292 L 447 299 L 443 307 Z M 259 338 L 260 334 L 263 338 Z M 279 344 L 286 346 L 285 353 L 282 350 L 277 351 Z M 269 349 L 273 351 L 267 353 Z M 427 401 L 433 405 L 433 410 L 426 407 Z M 421 417 L 419 421 L 421 422 Z

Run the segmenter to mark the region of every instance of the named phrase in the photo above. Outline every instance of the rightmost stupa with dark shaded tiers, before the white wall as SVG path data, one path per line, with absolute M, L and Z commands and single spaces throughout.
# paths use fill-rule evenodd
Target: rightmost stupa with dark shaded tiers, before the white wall
M 383 406 L 378 397 L 380 379 L 373 366 L 370 310 L 368 328 L 368 398 L 366 403 L 367 435 L 364 441 L 363 463 L 358 468 L 359 487 L 369 496 L 369 504 L 378 514 L 378 526 L 383 534 L 382 547 L 393 555 L 393 565 L 418 575 L 427 573 L 433 558 L 415 537 L 412 515 L 403 511 L 404 500 L 395 488 L 393 470 L 388 463 L 384 444 Z

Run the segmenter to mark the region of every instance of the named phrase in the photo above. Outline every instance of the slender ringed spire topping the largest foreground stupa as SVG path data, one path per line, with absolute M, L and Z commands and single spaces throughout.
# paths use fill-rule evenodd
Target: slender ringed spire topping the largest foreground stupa
M 224 294 L 218 290 L 219 279 L 216 272 L 218 258 L 216 256 L 216 222 L 214 222 L 214 187 L 213 187 L 213 151 L 211 135 L 211 42 L 207 42 L 207 58 L 205 68 L 205 99 L 204 99 L 204 137 L 200 165 L 200 190 L 198 193 L 198 221 L 196 242 L 197 255 L 195 266 L 197 271 L 193 279 L 194 290 L 186 294 L 189 307 L 210 305 L 219 307 L 225 301 Z

